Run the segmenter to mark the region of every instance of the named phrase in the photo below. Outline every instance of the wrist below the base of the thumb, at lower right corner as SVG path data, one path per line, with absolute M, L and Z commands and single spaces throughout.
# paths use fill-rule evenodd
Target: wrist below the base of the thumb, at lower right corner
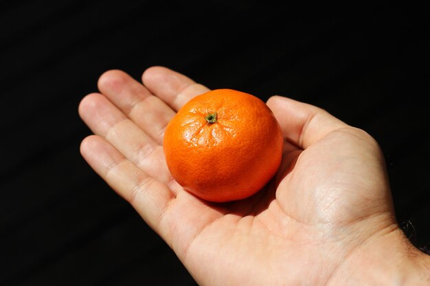
M 353 250 L 329 285 L 429 286 L 430 256 L 392 226 Z

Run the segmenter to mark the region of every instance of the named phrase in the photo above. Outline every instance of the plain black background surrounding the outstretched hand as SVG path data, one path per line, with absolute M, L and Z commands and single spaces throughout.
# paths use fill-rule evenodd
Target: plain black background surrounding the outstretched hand
M 38 1 L 39 2 L 39 1 Z M 0 4 L 0 285 L 195 285 L 84 162 L 80 99 L 163 65 L 209 88 L 325 108 L 380 143 L 398 222 L 429 230 L 429 27 L 418 5 Z

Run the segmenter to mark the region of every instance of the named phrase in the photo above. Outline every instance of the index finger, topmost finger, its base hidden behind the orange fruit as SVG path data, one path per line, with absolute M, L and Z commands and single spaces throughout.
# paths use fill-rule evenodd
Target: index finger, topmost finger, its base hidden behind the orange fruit
M 150 67 L 142 75 L 142 82 L 174 110 L 179 110 L 190 99 L 209 91 L 194 80 L 166 67 Z

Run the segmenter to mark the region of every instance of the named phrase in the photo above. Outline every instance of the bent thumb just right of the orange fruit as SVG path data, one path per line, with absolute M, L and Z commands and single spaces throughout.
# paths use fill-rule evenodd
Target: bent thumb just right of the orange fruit
M 278 119 L 284 137 L 302 149 L 329 132 L 348 126 L 317 106 L 286 97 L 273 96 L 267 105 Z

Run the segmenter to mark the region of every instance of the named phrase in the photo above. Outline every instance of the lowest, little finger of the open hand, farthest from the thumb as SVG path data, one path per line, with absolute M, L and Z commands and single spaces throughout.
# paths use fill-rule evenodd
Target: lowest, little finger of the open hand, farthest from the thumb
M 165 184 L 136 167 L 100 136 L 84 139 L 80 152 L 95 172 L 127 200 L 150 227 L 162 231 L 159 228 L 161 214 L 174 198 Z

